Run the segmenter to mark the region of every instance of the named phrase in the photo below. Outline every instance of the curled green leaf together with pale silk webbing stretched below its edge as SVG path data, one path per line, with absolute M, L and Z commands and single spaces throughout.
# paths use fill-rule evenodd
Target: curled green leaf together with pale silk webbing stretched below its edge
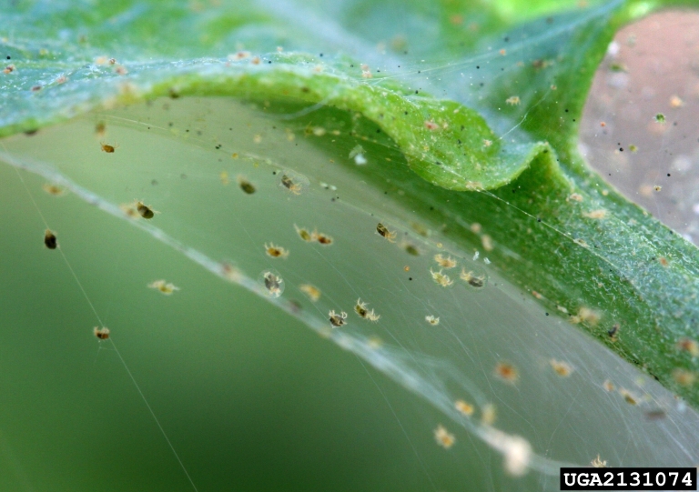
M 483 396 L 478 389 L 490 385 L 488 378 L 471 387 L 476 376 L 462 358 L 479 356 L 466 348 L 463 354 L 444 349 L 454 339 L 465 346 L 469 330 L 480 325 L 470 326 L 471 318 L 454 306 L 471 303 L 467 306 L 474 311 L 480 302 L 491 303 L 495 311 L 517 306 L 524 311 L 522 326 L 533 326 L 542 313 L 522 307 L 529 305 L 518 299 L 512 285 L 531 293 L 547 315 L 582 326 L 697 407 L 699 388 L 677 377 L 677 371 L 697 370 L 692 350 L 678 347 L 682 340 L 696 338 L 697 250 L 617 194 L 576 151 L 582 105 L 614 31 L 657 6 L 348 0 L 332 5 L 115 2 L 87 9 L 60 2 L 21 3 L 3 13 L 5 26 L 12 27 L 0 33 L 2 55 L 9 57 L 0 75 L 0 136 L 8 137 L 0 157 L 66 186 L 120 219 L 128 217 L 118 203 L 135 198 L 128 194 L 154 196 L 158 202 L 153 206 L 163 214 L 153 225 L 134 221 L 141 231 L 210 273 L 267 298 L 285 311 L 285 319 L 299 318 L 456 421 L 461 418 L 453 407 L 456 394 L 447 389 L 454 374 L 458 386 L 469 387 L 481 407 L 501 397 Z M 223 96 L 238 103 L 218 100 Z M 199 103 L 199 97 L 209 102 Z M 257 134 L 248 135 L 246 121 Z M 90 140 L 100 122 L 107 124 L 108 143 L 119 144 L 114 155 L 100 152 Z M 219 150 L 215 161 L 209 154 Z M 258 186 L 249 198 L 272 196 L 268 202 L 251 206 L 241 201 L 244 197 L 214 187 L 220 170 L 230 166 L 231 154 L 242 162 L 231 174 L 240 172 Z M 200 167 L 187 166 L 187 159 Z M 369 165 L 362 165 L 362 159 L 369 159 Z M 302 186 L 298 199 L 293 193 L 279 198 L 289 191 L 279 189 L 279 174 Z M 182 185 L 192 175 L 196 191 Z M 268 181 L 271 176 L 276 176 L 274 183 Z M 156 185 L 147 186 L 151 179 L 168 191 L 154 191 Z M 28 190 L 38 183 L 33 185 Z M 331 203 L 347 204 L 345 215 L 333 216 L 334 222 L 329 212 L 319 214 L 330 203 L 332 186 L 339 191 Z M 179 196 L 195 198 L 190 203 Z M 229 200 L 237 211 L 246 210 L 244 216 L 254 217 L 258 227 L 245 222 L 246 217 L 231 223 Z M 334 227 L 325 232 L 337 244 L 314 250 L 316 256 L 298 252 L 306 245 L 291 248 L 289 264 L 295 256 L 304 261 L 278 266 L 287 284 L 308 282 L 313 275 L 309 268 L 320 269 L 316 260 L 321 258 L 347 284 L 322 274 L 327 281 L 323 291 L 332 299 L 328 308 L 350 310 L 347 303 L 354 299 L 349 297 L 376 292 L 370 307 L 385 313 L 383 323 L 390 328 L 381 337 L 392 336 L 395 345 L 381 352 L 371 348 L 370 333 L 328 331 L 325 305 L 300 303 L 298 291 L 296 297 L 268 298 L 264 283 L 254 281 L 258 271 L 268 268 L 255 256 L 261 255 L 262 244 L 275 235 L 287 244 L 289 237 L 298 240 L 294 221 L 304 221 L 298 226 L 309 229 Z M 374 234 L 377 222 L 400 232 L 400 241 L 390 245 Z M 228 228 L 238 235 L 228 236 Z M 343 242 L 348 249 L 341 249 Z M 371 263 L 375 257 L 363 251 L 365 245 L 376 249 L 381 261 Z M 392 249 L 380 249 L 388 247 Z M 411 288 L 422 290 L 411 291 L 405 283 L 412 277 L 406 281 L 386 266 L 408 263 L 409 256 L 399 256 L 405 251 L 398 248 L 420 253 L 406 267 L 429 287 L 420 284 Z M 490 265 L 471 260 L 474 250 L 488 256 Z M 339 254 L 343 251 L 344 256 Z M 440 252 L 458 256 L 465 279 L 487 273 L 492 292 L 464 284 L 456 279 L 458 271 L 449 274 L 450 281 L 461 284 L 439 290 L 429 273 L 435 264 L 429 264 Z M 374 270 L 381 272 L 380 279 L 370 276 Z M 119 280 L 119 286 L 129 281 Z M 138 282 L 140 288 L 143 282 Z M 493 293 L 498 285 L 501 297 Z M 218 298 L 212 286 L 202 288 Z M 490 297 L 483 298 L 489 300 L 473 300 L 472 295 L 480 294 L 475 290 L 487 290 Z M 391 331 L 404 323 L 410 328 L 406 331 L 421 333 L 424 316 L 433 313 L 420 309 L 436 306 L 451 313 L 452 323 L 463 317 L 468 329 L 447 325 L 451 331 L 424 339 Z M 518 313 L 507 316 L 516 319 Z M 441 317 L 442 324 L 450 319 Z M 485 313 L 473 319 L 493 323 Z M 566 336 L 571 344 L 577 340 Z M 471 343 L 478 346 L 480 340 Z M 582 352 L 593 354 L 584 341 L 579 343 Z M 561 348 L 565 342 L 552 345 Z M 493 346 L 483 350 L 512 350 Z M 523 366 L 552 356 L 542 346 L 529 350 L 531 359 L 522 359 Z M 597 356 L 607 360 L 596 353 L 592 358 Z M 427 357 L 441 365 L 431 366 Z M 602 381 L 596 383 L 599 387 Z M 512 426 L 522 433 L 526 423 L 517 417 Z M 461 425 L 505 457 L 516 449 L 500 431 L 468 422 Z M 527 464 L 542 473 L 556 469 L 555 462 L 539 456 Z

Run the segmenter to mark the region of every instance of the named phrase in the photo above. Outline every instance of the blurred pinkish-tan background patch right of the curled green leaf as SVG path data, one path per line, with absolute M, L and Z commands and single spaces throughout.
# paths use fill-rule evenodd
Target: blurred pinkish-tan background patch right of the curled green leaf
M 625 196 L 699 244 L 699 14 L 653 15 L 615 36 L 585 106 L 581 150 Z

